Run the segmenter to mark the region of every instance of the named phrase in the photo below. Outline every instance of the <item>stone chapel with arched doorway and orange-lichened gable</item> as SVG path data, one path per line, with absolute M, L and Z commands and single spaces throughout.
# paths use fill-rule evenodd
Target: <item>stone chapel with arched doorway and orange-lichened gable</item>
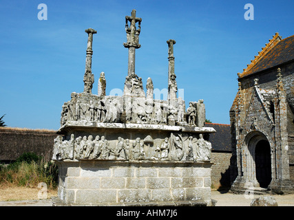
M 294 35 L 278 33 L 238 73 L 231 191 L 294 192 Z

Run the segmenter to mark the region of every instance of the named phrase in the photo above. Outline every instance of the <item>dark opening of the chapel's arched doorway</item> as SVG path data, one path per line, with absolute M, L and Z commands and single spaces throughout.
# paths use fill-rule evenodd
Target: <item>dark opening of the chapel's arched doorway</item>
M 267 140 L 260 140 L 255 146 L 255 174 L 260 187 L 271 183 L 271 147 Z

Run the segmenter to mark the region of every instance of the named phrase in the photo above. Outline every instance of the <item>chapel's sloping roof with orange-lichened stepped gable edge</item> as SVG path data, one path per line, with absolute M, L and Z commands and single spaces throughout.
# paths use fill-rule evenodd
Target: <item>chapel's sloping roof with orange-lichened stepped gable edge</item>
M 292 60 L 294 60 L 294 35 L 282 40 L 279 33 L 275 33 L 273 39 L 262 47 L 258 56 L 255 56 L 254 60 L 238 76 L 243 78 Z

